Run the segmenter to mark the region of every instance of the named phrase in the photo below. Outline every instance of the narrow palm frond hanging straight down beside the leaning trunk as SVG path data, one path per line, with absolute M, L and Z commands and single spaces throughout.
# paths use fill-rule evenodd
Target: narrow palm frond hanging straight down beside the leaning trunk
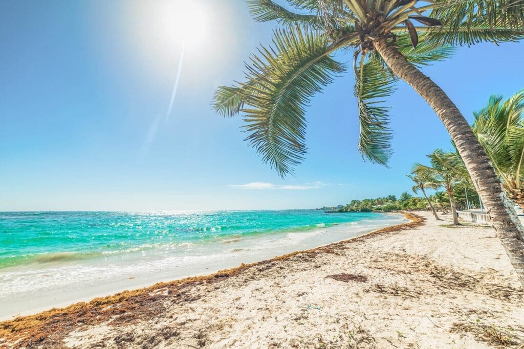
M 356 69 L 354 95 L 360 123 L 358 150 L 371 162 L 385 166 L 392 154 L 392 133 L 388 116 L 390 108 L 382 105 L 382 98 L 395 91 L 394 83 L 394 78 L 376 60 L 368 60 Z

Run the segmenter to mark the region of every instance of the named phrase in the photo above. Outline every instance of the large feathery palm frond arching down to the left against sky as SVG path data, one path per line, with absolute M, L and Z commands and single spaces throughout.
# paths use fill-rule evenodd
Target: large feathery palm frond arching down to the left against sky
M 235 92 L 245 103 L 240 111 L 245 112 L 246 140 L 283 177 L 306 153 L 304 108 L 345 68 L 330 57 L 328 39 L 314 31 L 277 29 L 272 42 L 250 58 L 248 82 Z

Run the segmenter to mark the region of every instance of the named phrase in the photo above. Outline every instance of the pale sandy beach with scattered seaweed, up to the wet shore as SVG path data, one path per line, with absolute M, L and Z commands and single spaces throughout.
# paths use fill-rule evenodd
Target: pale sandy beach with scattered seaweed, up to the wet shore
M 408 217 L 317 249 L 2 322 L 2 345 L 524 344 L 524 292 L 493 229 Z

